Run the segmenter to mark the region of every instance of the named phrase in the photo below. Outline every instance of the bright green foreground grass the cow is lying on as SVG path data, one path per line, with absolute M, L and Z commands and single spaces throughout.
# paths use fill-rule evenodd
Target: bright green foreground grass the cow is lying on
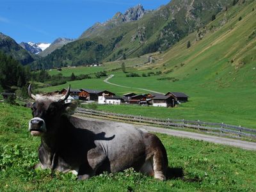
M 33 170 L 39 138 L 28 133 L 30 109 L 0 104 L 0 191 L 253 191 L 256 154 L 239 148 L 159 134 L 172 175 L 184 178 L 159 182 L 127 171 L 77 181 L 71 174 Z

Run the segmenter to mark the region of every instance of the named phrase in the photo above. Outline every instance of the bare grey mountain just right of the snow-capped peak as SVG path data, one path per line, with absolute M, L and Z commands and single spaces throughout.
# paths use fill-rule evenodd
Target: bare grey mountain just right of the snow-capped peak
M 60 49 L 61 47 L 63 47 L 63 45 L 66 45 L 73 41 L 74 41 L 74 39 L 71 39 L 71 38 L 57 38 L 56 40 L 54 40 L 54 42 L 52 42 L 51 45 L 49 45 L 49 47 L 44 49 L 38 55 L 45 57 L 48 54 L 51 54 L 51 52 L 55 51 L 56 49 Z

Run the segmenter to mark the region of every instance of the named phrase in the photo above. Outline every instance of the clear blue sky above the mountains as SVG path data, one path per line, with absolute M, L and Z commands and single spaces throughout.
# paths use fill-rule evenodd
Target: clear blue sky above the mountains
M 0 32 L 20 42 L 77 38 L 95 22 L 142 4 L 157 9 L 170 0 L 0 0 Z

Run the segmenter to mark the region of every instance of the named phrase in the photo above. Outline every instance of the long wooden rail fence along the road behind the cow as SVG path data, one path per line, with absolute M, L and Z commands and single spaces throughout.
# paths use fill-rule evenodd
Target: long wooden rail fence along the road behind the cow
M 246 137 L 256 139 L 256 129 L 250 129 L 241 126 L 220 124 L 220 123 L 210 123 L 201 122 L 200 120 L 175 120 L 175 119 L 160 119 L 160 118 L 150 118 L 145 116 L 135 116 L 135 115 L 124 115 L 119 113 L 109 113 L 104 111 L 96 111 L 92 109 L 77 108 L 77 115 L 85 116 L 100 116 L 104 118 L 111 118 L 115 120 L 122 120 L 125 122 L 136 122 L 140 124 L 158 125 L 161 127 L 179 127 L 196 129 L 198 131 L 207 132 L 211 134 L 218 134 L 222 136 L 231 136 L 236 138 Z

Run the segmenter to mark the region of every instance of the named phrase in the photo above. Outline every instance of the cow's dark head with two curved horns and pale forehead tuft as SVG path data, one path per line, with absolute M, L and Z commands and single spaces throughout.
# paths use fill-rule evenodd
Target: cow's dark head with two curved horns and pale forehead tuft
M 47 93 L 44 95 L 34 95 L 31 92 L 31 84 L 28 87 L 29 96 L 35 100 L 31 106 L 33 118 L 29 121 L 29 132 L 32 136 L 42 136 L 46 132 L 51 133 L 56 129 L 56 122 L 60 122 L 60 117 L 65 113 L 70 104 L 65 104 L 70 94 L 70 86 L 63 96 L 57 93 Z

